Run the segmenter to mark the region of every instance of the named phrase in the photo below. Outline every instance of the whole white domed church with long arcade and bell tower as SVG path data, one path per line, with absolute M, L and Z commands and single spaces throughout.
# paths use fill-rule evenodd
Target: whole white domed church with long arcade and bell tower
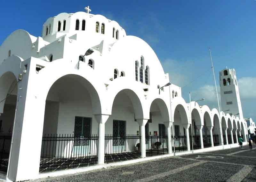
M 87 12 L 48 18 L 41 37 L 0 47 L 0 170 L 11 181 L 138 157 L 246 144 L 235 69 L 220 71 L 221 108 L 186 103 L 154 50 Z

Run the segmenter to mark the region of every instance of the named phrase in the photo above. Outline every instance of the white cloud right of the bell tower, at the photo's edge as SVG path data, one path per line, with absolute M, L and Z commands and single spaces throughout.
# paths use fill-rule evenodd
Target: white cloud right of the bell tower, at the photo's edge
M 242 77 L 238 80 L 240 97 L 256 98 L 256 77 Z

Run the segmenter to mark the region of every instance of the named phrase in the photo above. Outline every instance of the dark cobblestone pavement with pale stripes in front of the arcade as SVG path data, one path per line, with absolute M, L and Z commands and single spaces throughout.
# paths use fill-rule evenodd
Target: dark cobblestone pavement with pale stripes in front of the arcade
M 234 148 L 166 157 L 33 182 L 256 181 L 256 150 Z M 256 148 L 255 148 L 256 149 Z

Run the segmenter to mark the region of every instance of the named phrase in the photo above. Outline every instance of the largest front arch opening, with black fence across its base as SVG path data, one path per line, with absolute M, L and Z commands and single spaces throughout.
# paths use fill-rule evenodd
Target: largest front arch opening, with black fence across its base
M 45 100 L 39 172 L 97 162 L 98 123 L 93 105 L 100 106 L 98 93 L 84 77 L 69 74 L 52 84 Z

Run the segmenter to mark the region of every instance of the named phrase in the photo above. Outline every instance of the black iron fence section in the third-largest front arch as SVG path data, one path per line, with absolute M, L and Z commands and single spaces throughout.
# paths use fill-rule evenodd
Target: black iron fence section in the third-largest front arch
M 157 156 L 168 153 L 168 137 L 158 135 L 146 136 L 146 156 Z

